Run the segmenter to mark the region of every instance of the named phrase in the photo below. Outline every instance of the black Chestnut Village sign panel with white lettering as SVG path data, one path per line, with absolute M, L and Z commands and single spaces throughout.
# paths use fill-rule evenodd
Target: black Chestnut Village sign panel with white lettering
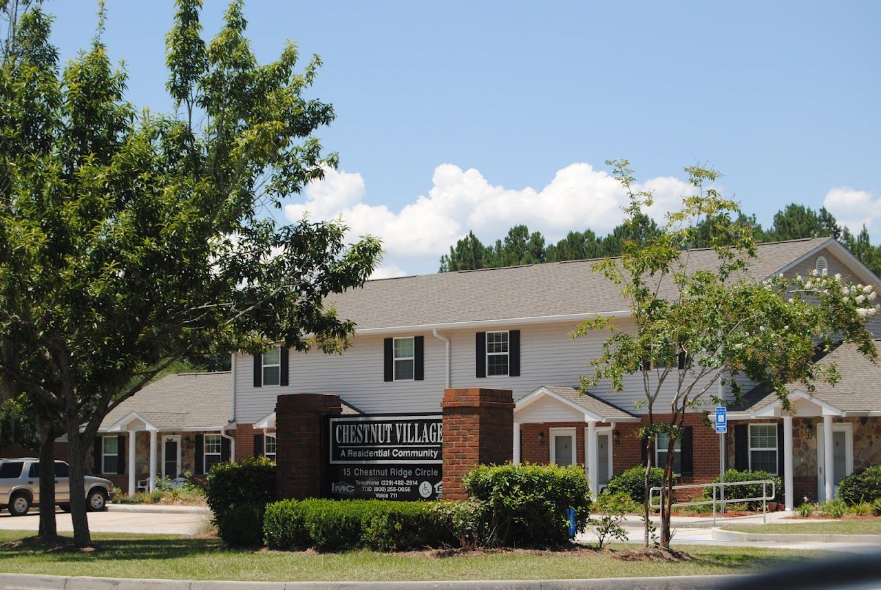
M 329 498 L 441 498 L 440 414 L 328 420 Z

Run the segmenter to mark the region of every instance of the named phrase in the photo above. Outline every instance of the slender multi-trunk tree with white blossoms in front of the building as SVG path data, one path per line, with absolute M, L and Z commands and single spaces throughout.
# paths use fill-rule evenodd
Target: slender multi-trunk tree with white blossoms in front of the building
M 635 188 L 626 160 L 607 162 L 629 196 L 626 222 L 652 204 L 652 195 Z M 876 293 L 870 285 L 851 285 L 840 276 L 811 272 L 809 277 L 746 275 L 757 248 L 750 225 L 739 223 L 737 203 L 714 188 L 719 174 L 700 166 L 685 168 L 694 195 L 682 210 L 668 215 L 663 231 L 642 244 L 626 240 L 620 258 L 597 262 L 595 269 L 618 285 L 633 323 L 618 325 L 610 318 L 585 321 L 574 333 L 611 330 L 603 352 L 591 361 L 593 372 L 581 378 L 582 391 L 601 382 L 620 391 L 625 379 L 638 375 L 648 410 L 648 425 L 640 437 L 648 447 L 646 465 L 645 541 L 648 546 L 648 472 L 658 434 L 668 440 L 664 468 L 661 543 L 670 546 L 674 448 L 682 436 L 685 414 L 710 403 L 724 403 L 720 383 L 735 398 L 741 392 L 738 375 L 765 384 L 785 409 L 791 409 L 787 384 L 798 382 L 807 391 L 814 383 L 839 379 L 834 365 L 815 364 L 818 351 L 840 342 L 855 343 L 871 358 L 877 351 L 866 322 L 875 315 Z M 707 186 L 708 185 L 708 186 Z M 707 226 L 712 231 L 707 232 Z M 695 228 L 714 250 L 714 262 L 690 264 L 687 250 Z M 660 419 L 663 417 L 663 419 Z

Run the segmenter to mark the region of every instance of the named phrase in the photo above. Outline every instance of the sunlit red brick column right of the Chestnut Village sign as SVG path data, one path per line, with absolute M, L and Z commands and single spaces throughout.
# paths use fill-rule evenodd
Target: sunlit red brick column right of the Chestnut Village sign
M 508 389 L 445 389 L 443 498 L 466 498 L 462 478 L 476 465 L 512 461 L 514 395 Z

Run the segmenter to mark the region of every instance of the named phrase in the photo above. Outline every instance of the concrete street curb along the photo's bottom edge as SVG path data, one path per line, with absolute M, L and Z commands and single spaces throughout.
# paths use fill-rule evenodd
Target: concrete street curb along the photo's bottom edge
M 739 575 L 663 578 L 518 579 L 429 582 L 233 582 L 176 579 L 120 579 L 0 574 L 0 588 L 33 590 L 698 590 L 741 579 Z

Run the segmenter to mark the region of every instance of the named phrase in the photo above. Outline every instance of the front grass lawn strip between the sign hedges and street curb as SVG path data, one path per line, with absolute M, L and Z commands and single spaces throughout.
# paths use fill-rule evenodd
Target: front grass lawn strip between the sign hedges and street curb
M 559 579 L 751 573 L 822 553 L 753 547 L 676 545 L 695 557 L 678 563 L 626 562 L 588 549 L 510 551 L 434 557 L 352 551 L 317 554 L 223 549 L 216 539 L 96 534 L 100 550 L 50 552 L 10 542 L 29 532 L 0 531 L 0 572 L 111 578 L 229 580 Z M 615 545 L 612 549 L 634 549 Z

